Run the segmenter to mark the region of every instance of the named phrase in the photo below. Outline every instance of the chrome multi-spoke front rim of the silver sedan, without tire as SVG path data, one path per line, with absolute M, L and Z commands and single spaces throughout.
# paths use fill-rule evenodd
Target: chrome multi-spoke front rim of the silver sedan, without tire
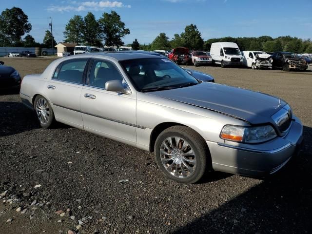
M 160 159 L 173 176 L 191 176 L 196 167 L 196 156 L 190 144 L 180 137 L 168 137 L 160 145 Z

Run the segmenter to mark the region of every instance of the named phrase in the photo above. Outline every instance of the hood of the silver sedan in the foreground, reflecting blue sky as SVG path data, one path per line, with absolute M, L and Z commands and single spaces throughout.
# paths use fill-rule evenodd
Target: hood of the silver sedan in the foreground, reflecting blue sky
M 287 104 L 267 94 L 209 82 L 149 94 L 220 112 L 251 124 L 274 124 L 272 115 Z

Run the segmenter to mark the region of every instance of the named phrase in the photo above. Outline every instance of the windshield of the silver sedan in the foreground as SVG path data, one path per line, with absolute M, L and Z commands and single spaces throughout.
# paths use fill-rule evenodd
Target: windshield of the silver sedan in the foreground
M 120 63 L 140 92 L 174 89 L 199 83 L 169 59 L 131 59 Z

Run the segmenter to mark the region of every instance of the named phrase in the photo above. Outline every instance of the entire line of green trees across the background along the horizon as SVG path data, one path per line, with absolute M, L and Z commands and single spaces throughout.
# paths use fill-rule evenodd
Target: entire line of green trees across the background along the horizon
M 49 30 L 45 31 L 43 43 L 36 42 L 27 34 L 31 31 L 32 25 L 28 22 L 28 16 L 18 7 L 5 9 L 0 15 L 0 46 L 20 46 L 20 47 L 52 47 L 56 41 Z M 22 36 L 27 34 L 23 39 Z M 87 44 L 91 46 L 121 46 L 124 45 L 122 38 L 130 34 L 129 28 L 121 21 L 116 11 L 104 12 L 97 20 L 92 12 L 88 12 L 85 17 L 75 15 L 66 24 L 63 32 L 65 42 Z M 225 37 L 214 38 L 204 41 L 201 33 L 195 24 L 187 25 L 184 32 L 176 33 L 169 39 L 165 33 L 160 33 L 152 43 L 140 44 L 137 39 L 128 44 L 133 49 L 138 50 L 170 50 L 175 47 L 187 47 L 191 50 L 210 51 L 213 42 L 229 41 L 235 42 L 241 50 L 258 51 L 288 51 L 292 53 L 312 53 L 312 41 L 291 36 L 272 38 L 270 36 L 255 37 Z

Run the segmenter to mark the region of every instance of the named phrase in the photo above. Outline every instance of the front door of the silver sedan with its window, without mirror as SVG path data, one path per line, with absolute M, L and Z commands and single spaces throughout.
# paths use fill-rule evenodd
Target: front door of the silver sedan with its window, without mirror
M 84 129 L 104 137 L 136 144 L 136 95 L 105 90 L 105 83 L 118 79 L 125 83 L 118 64 L 94 59 L 83 87 L 80 102 Z

